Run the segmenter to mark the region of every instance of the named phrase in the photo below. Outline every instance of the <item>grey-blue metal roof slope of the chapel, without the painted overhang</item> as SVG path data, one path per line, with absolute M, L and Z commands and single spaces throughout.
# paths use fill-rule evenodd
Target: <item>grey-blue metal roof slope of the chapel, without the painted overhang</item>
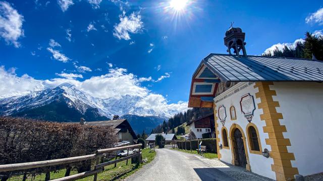
M 323 61 L 310 59 L 210 54 L 202 64 L 223 81 L 323 81 Z

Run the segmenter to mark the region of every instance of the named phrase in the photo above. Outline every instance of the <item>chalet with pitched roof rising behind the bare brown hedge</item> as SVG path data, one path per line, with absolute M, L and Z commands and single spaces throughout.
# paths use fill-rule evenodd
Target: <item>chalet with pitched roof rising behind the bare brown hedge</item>
M 119 119 L 119 116 L 114 116 L 113 120 L 109 121 L 90 121 L 84 122 L 84 124 L 95 126 L 112 126 L 119 136 L 119 141 L 129 141 L 130 144 L 133 144 L 134 140 L 137 139 L 136 133 L 133 131 L 127 119 Z

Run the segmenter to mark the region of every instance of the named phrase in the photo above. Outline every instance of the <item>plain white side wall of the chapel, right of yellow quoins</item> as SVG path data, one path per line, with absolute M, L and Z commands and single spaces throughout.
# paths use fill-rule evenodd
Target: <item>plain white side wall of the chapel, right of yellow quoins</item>
M 271 89 L 283 114 L 284 137 L 291 142 L 288 151 L 295 155 L 292 166 L 302 175 L 323 172 L 323 83 L 274 82 Z

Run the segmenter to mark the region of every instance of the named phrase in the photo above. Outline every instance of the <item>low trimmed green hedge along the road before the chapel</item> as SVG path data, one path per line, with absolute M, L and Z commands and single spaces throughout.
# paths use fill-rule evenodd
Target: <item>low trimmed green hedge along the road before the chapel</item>
M 208 152 L 217 153 L 216 138 L 191 140 L 191 144 L 190 144 L 190 141 L 177 141 L 177 147 L 180 149 L 185 149 L 185 144 L 186 144 L 187 150 L 191 149 L 190 145 L 192 145 L 192 150 L 196 150 L 198 148 L 198 146 L 197 146 L 198 141 L 202 141 L 202 146 L 206 146 L 206 150 Z M 182 145 L 183 145 L 183 147 L 182 147 Z

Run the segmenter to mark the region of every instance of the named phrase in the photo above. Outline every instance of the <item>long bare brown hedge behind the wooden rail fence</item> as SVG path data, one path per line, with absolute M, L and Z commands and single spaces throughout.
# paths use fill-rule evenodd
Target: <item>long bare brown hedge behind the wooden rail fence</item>
M 0 164 L 42 161 L 93 154 L 112 147 L 118 137 L 112 127 L 53 123 L 24 118 L 0 117 Z M 91 161 L 70 165 L 17 170 L 13 173 L 40 173 L 67 167 L 88 170 Z M 8 172 L 0 174 L 9 175 Z

